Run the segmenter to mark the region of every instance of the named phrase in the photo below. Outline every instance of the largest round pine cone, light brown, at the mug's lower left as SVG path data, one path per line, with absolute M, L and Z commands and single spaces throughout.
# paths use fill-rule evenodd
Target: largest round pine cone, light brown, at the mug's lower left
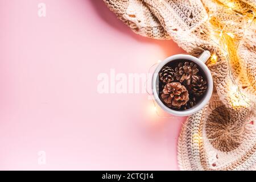
M 178 109 L 185 105 L 189 100 L 188 90 L 178 82 L 166 84 L 161 97 L 168 107 L 175 107 Z

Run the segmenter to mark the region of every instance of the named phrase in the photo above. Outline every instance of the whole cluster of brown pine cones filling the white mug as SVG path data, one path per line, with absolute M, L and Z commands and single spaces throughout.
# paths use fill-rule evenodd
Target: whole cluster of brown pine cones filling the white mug
M 193 62 L 183 61 L 175 69 L 164 66 L 159 72 L 159 80 L 163 89 L 160 97 L 171 109 L 185 110 L 195 106 L 207 90 L 207 81 Z

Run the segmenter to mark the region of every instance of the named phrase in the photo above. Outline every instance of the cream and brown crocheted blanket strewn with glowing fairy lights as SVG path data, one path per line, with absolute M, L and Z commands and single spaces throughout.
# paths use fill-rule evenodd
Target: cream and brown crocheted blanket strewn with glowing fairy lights
M 256 0 L 104 1 L 137 34 L 212 53 L 214 93 L 181 130 L 180 169 L 255 169 Z

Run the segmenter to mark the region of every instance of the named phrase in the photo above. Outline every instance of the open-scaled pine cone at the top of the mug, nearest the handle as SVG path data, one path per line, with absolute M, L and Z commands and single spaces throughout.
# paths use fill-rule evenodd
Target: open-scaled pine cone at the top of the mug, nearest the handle
M 185 81 L 185 84 L 190 85 L 192 82 L 192 78 L 197 77 L 198 72 L 199 69 L 197 68 L 197 65 L 193 62 L 185 62 L 184 64 L 179 63 L 178 66 L 175 68 L 175 77 L 178 81 Z

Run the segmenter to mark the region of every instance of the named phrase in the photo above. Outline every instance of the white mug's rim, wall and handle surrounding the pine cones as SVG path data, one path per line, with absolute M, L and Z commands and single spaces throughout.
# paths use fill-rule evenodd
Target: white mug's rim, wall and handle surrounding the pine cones
M 167 113 L 170 113 L 172 115 L 177 115 L 177 116 L 185 116 L 185 115 L 191 115 L 196 113 L 197 111 L 201 110 L 210 100 L 210 97 L 212 96 L 212 90 L 213 90 L 213 80 L 212 80 L 212 75 L 210 74 L 210 71 L 205 65 L 205 62 L 209 59 L 210 57 L 210 52 L 209 51 L 204 51 L 198 58 L 191 56 L 191 55 L 174 55 L 167 57 L 164 61 L 159 63 L 158 67 L 156 67 L 155 72 L 152 77 L 152 91 L 153 95 L 155 98 L 155 101 L 158 103 L 160 107 Z M 163 104 L 163 102 L 159 98 L 159 93 L 157 86 L 159 85 L 159 72 L 160 70 L 166 65 L 167 63 L 170 63 L 171 61 L 175 60 L 189 60 L 198 65 L 200 67 L 201 71 L 204 73 L 206 79 L 207 79 L 207 90 L 205 91 L 206 93 L 204 94 L 203 98 L 193 107 L 187 110 L 173 110 L 167 107 L 166 105 Z

